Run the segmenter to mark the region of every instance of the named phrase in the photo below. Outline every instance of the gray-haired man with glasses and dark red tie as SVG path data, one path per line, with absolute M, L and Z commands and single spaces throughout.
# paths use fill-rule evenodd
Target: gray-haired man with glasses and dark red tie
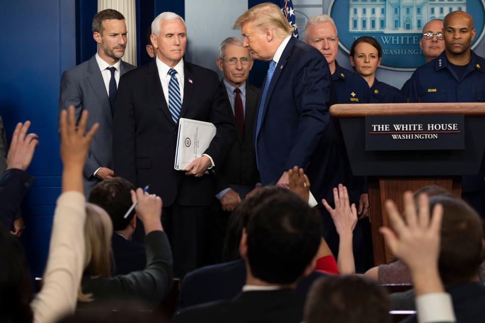
M 222 41 L 216 64 L 224 73 L 220 86 L 226 93 L 226 107 L 233 117 L 237 139 L 216 174 L 216 195 L 209 226 L 213 262 L 221 261 L 230 212 L 246 194 L 261 188 L 253 137 L 260 90 L 247 82 L 253 62 L 248 48 L 243 47 L 242 38 L 228 37 Z

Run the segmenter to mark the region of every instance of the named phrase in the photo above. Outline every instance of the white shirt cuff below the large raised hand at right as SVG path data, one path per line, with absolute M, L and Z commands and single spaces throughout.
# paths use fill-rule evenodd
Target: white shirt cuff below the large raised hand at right
M 429 293 L 416 297 L 418 323 L 456 322 L 448 293 Z

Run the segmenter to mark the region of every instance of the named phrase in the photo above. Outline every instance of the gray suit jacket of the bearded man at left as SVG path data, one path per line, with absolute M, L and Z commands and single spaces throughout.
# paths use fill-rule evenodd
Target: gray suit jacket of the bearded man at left
M 135 66 L 121 61 L 120 76 L 134 68 Z M 96 122 L 100 124 L 100 128 L 89 145 L 89 153 L 83 170 L 84 193 L 88 196 L 91 189 L 100 182 L 93 176 L 94 172 L 100 167 L 113 168 L 111 154 L 113 115 L 95 55 L 89 61 L 62 74 L 59 113 L 62 109 L 68 109 L 71 104 L 76 108 L 76 120 L 79 120 L 83 109 L 89 111 L 87 129 L 90 129 Z

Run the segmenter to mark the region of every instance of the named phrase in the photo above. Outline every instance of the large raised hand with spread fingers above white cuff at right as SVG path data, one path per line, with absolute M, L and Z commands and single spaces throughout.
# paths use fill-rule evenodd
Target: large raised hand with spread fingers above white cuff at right
M 408 266 L 417 296 L 443 291 L 438 273 L 443 206 L 434 206 L 430 220 L 428 196 L 421 194 L 418 203 L 419 212 L 416 212 L 413 194 L 404 193 L 404 221 L 396 204 L 387 200 L 385 208 L 394 231 L 386 227 L 379 229 L 391 252 Z

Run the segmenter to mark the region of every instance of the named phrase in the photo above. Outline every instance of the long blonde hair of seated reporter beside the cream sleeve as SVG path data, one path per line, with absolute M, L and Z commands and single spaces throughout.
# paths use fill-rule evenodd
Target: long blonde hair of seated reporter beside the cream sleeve
M 113 224 L 106 211 L 91 203 L 86 203 L 86 223 L 84 224 L 84 275 L 111 276 L 111 236 Z M 84 294 L 79 287 L 78 300 L 91 302 L 92 294 Z

